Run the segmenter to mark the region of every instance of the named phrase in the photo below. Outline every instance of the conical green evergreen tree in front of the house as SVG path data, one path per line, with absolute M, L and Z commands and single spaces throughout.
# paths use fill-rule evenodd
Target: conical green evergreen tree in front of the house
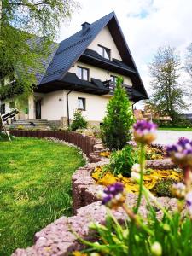
M 134 122 L 131 103 L 122 78 L 118 78 L 114 95 L 108 102 L 107 115 L 103 119 L 102 142 L 110 150 L 122 149 L 131 140 L 131 125 Z

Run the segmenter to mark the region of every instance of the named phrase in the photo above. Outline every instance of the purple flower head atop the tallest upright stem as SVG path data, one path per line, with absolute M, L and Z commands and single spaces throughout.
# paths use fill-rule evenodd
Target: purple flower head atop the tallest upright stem
M 150 144 L 156 138 L 157 125 L 145 120 L 133 125 L 133 134 L 137 143 Z

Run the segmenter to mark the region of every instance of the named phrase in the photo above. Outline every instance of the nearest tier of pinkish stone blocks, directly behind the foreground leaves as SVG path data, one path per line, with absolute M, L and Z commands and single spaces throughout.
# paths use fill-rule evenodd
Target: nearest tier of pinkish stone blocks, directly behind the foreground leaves
M 158 199 L 163 207 L 170 211 L 177 209 L 177 200 L 175 198 L 161 197 Z M 126 204 L 129 207 L 134 207 L 137 203 L 137 195 L 128 194 Z M 127 218 L 126 213 L 122 208 L 112 211 L 113 215 L 123 223 Z M 157 217 L 162 218 L 163 212 L 156 208 Z M 69 255 L 73 250 L 81 250 L 84 245 L 79 243 L 73 232 L 83 239 L 95 241 L 94 233 L 90 232 L 89 226 L 92 222 L 99 224 L 105 223 L 106 207 L 101 205 L 101 202 L 94 202 L 86 207 L 81 207 L 77 211 L 77 215 L 73 217 L 61 217 L 49 224 L 43 230 L 35 234 L 35 244 L 26 249 L 17 249 L 12 256 L 65 256 Z M 148 212 L 146 201 L 143 199 L 139 208 L 139 213 L 147 218 Z

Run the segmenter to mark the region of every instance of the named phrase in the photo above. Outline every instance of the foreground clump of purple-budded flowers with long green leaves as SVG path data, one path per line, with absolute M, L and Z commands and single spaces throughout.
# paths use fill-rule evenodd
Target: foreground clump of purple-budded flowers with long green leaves
M 183 169 L 184 177 L 184 183 L 172 185 L 172 193 L 177 197 L 177 210 L 171 211 L 162 207 L 160 201 L 143 186 L 146 146 L 154 141 L 155 132 L 153 123 L 138 121 L 134 125 L 134 137 L 141 147 L 139 166 L 131 172 L 131 177 L 139 184 L 137 205 L 130 208 L 125 203 L 122 183 L 114 183 L 104 189 L 101 197 L 102 204 L 108 208 L 106 224 L 90 224 L 90 230 L 96 232 L 95 242 L 78 237 L 87 246 L 83 255 L 191 255 L 192 141 L 180 138 L 175 145 L 167 147 L 167 155 Z M 142 200 L 147 201 L 147 218 L 139 212 Z M 127 214 L 125 224 L 120 224 L 110 211 L 119 207 Z

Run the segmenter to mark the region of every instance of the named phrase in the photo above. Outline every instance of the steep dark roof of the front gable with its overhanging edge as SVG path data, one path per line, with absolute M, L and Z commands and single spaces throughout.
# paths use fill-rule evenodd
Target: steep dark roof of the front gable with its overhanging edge
M 100 20 L 96 20 L 89 26 L 85 26 L 85 29 L 73 34 L 73 36 L 63 40 L 58 49 L 55 51 L 52 60 L 49 62 L 46 73 L 39 84 L 49 84 L 53 81 L 62 81 L 65 78 L 70 67 L 79 60 L 83 55 L 89 55 L 92 58 L 96 57 L 103 60 L 102 56 L 98 55 L 96 51 L 87 49 L 90 43 L 96 38 L 97 34 L 101 32 L 102 28 L 108 26 L 109 31 L 112 34 L 114 43 L 116 44 L 119 54 L 123 61 L 113 59 L 108 61 L 108 64 L 115 67 L 119 67 L 122 70 L 125 69 L 131 74 L 131 80 L 133 87 L 139 90 L 143 98 L 148 98 L 148 94 L 143 86 L 142 79 L 137 71 L 137 67 L 131 56 L 130 49 L 126 44 L 123 32 L 119 26 L 114 12 L 102 17 Z

